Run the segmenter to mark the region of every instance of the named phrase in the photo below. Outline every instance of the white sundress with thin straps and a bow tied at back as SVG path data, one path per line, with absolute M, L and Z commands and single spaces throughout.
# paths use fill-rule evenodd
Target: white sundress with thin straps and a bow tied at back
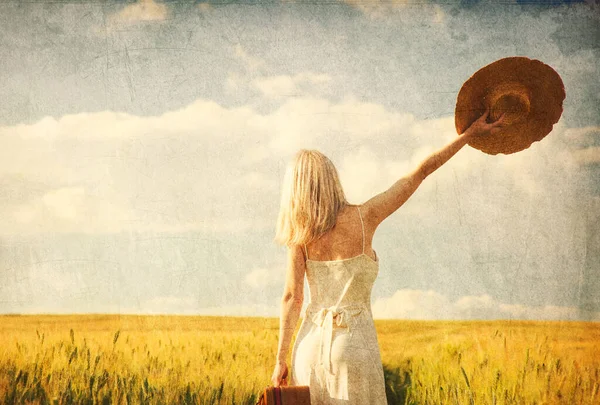
M 310 386 L 311 405 L 386 405 L 381 354 L 371 312 L 378 261 L 365 254 L 308 259 L 310 302 L 292 349 L 291 385 Z M 306 247 L 305 247 L 306 249 Z

